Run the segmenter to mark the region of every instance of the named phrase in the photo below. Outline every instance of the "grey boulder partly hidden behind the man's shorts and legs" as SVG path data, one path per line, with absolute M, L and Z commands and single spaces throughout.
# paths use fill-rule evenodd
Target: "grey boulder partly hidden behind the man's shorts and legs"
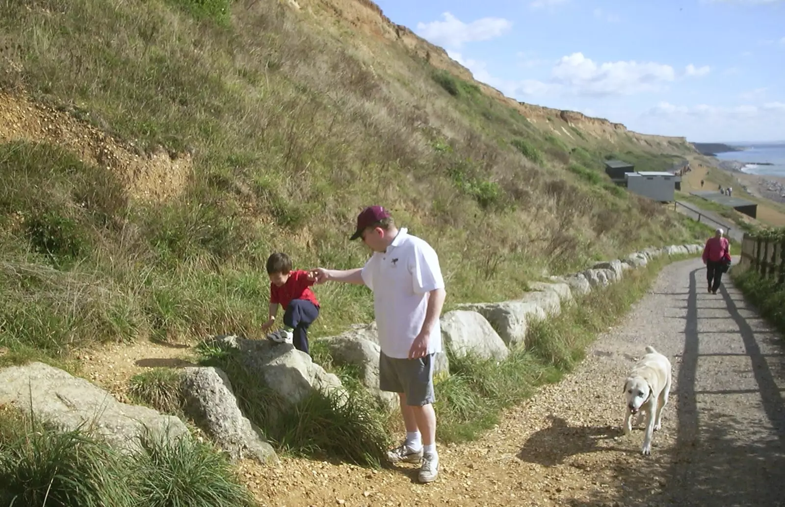
M 333 362 L 338 366 L 352 366 L 360 370 L 360 381 L 374 395 L 374 398 L 389 410 L 398 405 L 398 396 L 394 392 L 382 391 L 379 388 L 379 352 L 381 348 L 374 341 L 361 335 L 346 333 L 334 337 L 321 338 L 330 351 Z M 444 356 L 446 359 L 446 355 Z M 434 374 L 436 374 L 434 365 Z

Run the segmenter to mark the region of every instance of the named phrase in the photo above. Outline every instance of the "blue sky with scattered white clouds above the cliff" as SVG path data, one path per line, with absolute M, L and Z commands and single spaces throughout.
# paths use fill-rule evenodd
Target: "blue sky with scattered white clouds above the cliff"
M 517 100 L 692 141 L 785 140 L 785 0 L 377 0 Z

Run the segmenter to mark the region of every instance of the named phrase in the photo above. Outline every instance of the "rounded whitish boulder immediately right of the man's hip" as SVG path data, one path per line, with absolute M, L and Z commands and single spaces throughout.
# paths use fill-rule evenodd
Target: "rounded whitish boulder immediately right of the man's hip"
M 442 340 L 457 357 L 474 353 L 483 359 L 501 361 L 509 355 L 502 338 L 478 312 L 454 310 L 440 321 Z

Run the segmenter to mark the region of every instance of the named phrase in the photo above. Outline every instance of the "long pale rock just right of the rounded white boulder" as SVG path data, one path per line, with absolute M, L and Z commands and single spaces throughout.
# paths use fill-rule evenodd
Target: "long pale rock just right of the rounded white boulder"
M 528 319 L 545 319 L 542 306 L 530 301 L 502 301 L 501 303 L 465 303 L 458 309 L 477 312 L 484 316 L 507 347 L 512 348 L 526 340 Z

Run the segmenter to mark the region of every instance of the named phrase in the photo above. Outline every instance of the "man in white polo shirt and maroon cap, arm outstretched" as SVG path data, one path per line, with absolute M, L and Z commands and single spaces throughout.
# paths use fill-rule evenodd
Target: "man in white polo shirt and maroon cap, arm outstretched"
M 360 213 L 350 239 L 358 238 L 374 252 L 363 268 L 318 268 L 316 283 L 364 284 L 373 291 L 382 348 L 379 388 L 398 393 L 407 432 L 406 440 L 389 451 L 389 459 L 422 462 L 419 480 L 429 483 L 439 472 L 433 363 L 442 351 L 439 316 L 446 295 L 439 257 L 425 240 L 396 228 L 382 206 Z

